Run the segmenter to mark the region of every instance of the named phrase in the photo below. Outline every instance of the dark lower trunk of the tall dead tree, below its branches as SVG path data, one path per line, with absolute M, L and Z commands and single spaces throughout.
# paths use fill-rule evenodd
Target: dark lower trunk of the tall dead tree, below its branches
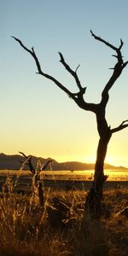
M 90 188 L 85 201 L 85 212 L 88 213 L 90 218 L 101 218 L 102 216 L 102 189 L 103 183 L 107 180 L 108 176 L 104 175 L 104 160 L 107 154 L 108 142 L 112 136 L 110 130 L 100 137 L 95 165 L 94 181 Z

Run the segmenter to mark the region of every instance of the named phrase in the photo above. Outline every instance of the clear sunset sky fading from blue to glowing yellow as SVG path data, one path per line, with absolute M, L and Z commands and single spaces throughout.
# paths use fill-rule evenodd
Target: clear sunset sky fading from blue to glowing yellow
M 4 0 L 0 1 L 0 152 L 34 154 L 58 161 L 95 162 L 96 117 L 80 109 L 51 81 L 36 74 L 32 57 L 10 36 L 34 46 L 44 73 L 76 91 L 75 81 L 61 65 L 58 51 L 87 86 L 85 100 L 100 102 L 112 74 L 113 50 L 97 36 L 119 46 L 128 60 L 127 0 Z M 128 119 L 128 67 L 110 90 L 107 107 L 112 128 Z M 106 162 L 128 166 L 128 128 L 116 132 Z

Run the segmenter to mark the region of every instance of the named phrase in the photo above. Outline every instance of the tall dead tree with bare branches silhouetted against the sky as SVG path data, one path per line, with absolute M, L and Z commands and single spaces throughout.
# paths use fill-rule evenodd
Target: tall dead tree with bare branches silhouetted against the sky
M 54 82 L 61 90 L 63 90 L 67 95 L 73 99 L 73 101 L 79 106 L 79 108 L 82 108 L 86 111 L 91 111 L 92 113 L 96 114 L 96 124 L 97 124 L 97 131 L 99 134 L 99 143 L 97 147 L 96 152 L 96 165 L 95 165 L 95 175 L 94 175 L 94 181 L 92 184 L 92 187 L 90 189 L 89 194 L 87 195 L 86 202 L 85 202 L 85 209 L 90 214 L 90 216 L 93 216 L 95 218 L 99 218 L 101 216 L 101 209 L 102 209 L 102 188 L 103 183 L 107 180 L 107 176 L 104 175 L 103 172 L 103 166 L 104 166 L 104 160 L 107 154 L 108 149 L 108 143 L 110 141 L 110 138 L 112 137 L 114 132 L 121 131 L 124 128 L 128 126 L 128 120 L 123 121 L 119 126 L 111 129 L 111 126 L 108 125 L 107 119 L 106 119 L 106 106 L 108 104 L 109 99 L 109 90 L 112 88 L 115 81 L 119 78 L 120 74 L 122 73 L 123 69 L 128 64 L 128 61 L 123 61 L 123 56 L 121 54 L 121 49 L 123 46 L 123 41 L 120 39 L 119 47 L 113 46 L 113 44 L 109 44 L 106 40 L 97 37 L 92 31 L 90 31 L 91 36 L 101 42 L 102 44 L 107 45 L 110 49 L 113 49 L 114 57 L 116 59 L 116 63 L 114 67 L 112 68 L 113 73 L 108 80 L 108 83 L 105 85 L 104 89 L 102 90 L 102 99 L 99 103 L 89 103 L 84 100 L 84 94 L 86 91 L 86 87 L 83 87 L 79 81 L 78 77 L 78 68 L 76 68 L 75 71 L 65 61 L 63 55 L 61 52 L 59 52 L 60 55 L 60 61 L 61 64 L 67 69 L 67 72 L 70 73 L 73 76 L 73 79 L 75 80 L 78 92 L 73 93 L 72 91 L 68 90 L 67 87 L 65 87 L 63 84 L 61 84 L 57 79 L 52 77 L 51 75 L 44 73 L 42 71 L 40 62 L 38 61 L 38 56 L 36 55 L 33 47 L 32 49 L 26 48 L 26 46 L 20 41 L 20 39 L 15 38 L 15 40 L 20 44 L 20 46 L 25 49 L 30 55 L 32 55 L 32 58 L 34 59 L 36 66 L 38 68 L 38 74 L 42 75 L 44 78 L 51 80 Z

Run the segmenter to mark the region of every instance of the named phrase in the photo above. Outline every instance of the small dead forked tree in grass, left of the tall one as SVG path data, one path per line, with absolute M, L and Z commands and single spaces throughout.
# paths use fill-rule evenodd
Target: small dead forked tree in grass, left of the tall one
M 24 154 L 23 152 L 19 152 L 19 153 L 25 157 L 26 160 L 23 162 L 23 164 L 29 166 L 29 170 L 32 172 L 32 177 L 34 177 L 34 179 L 37 182 L 38 199 L 39 199 L 40 206 L 43 207 L 44 206 L 44 189 L 43 189 L 43 183 L 40 176 L 40 172 L 44 171 L 46 167 L 49 165 L 49 163 L 52 162 L 53 160 L 48 160 L 43 166 L 43 168 L 36 170 L 32 165 L 32 156 L 31 155 L 26 156 L 26 154 Z

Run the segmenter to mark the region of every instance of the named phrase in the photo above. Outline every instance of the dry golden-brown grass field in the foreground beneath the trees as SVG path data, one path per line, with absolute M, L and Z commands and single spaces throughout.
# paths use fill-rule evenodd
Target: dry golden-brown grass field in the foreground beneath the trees
M 127 189 L 104 191 L 100 222 L 84 216 L 87 191 L 44 187 L 44 207 L 36 189 L 15 193 L 8 176 L 0 193 L 2 256 L 128 255 Z M 8 188 L 8 189 L 7 189 Z

